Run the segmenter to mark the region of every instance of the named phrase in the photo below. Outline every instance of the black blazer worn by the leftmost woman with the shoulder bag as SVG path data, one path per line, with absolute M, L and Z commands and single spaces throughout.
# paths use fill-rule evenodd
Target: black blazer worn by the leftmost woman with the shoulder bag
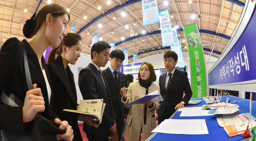
M 0 95 L 4 90 L 5 94 L 14 94 L 20 100 L 24 101 L 26 92 L 28 91 L 24 69 L 23 46 L 26 49 L 27 60 L 30 69 L 32 83 L 37 83 L 37 88 L 41 88 L 45 101 L 45 111 L 40 113 L 45 118 L 54 121 L 56 114 L 52 112 L 53 90 L 50 104 L 48 92 L 45 84 L 44 75 L 39 65 L 37 54 L 31 48 L 29 43 L 24 39 L 20 42 L 17 38 L 10 38 L 1 47 L 0 50 Z M 41 58 L 42 65 L 45 66 L 47 79 L 50 83 L 48 69 L 45 64 L 44 57 Z M 0 100 L 2 101 L 2 100 Z M 22 107 L 11 107 L 0 102 L 0 129 L 16 134 L 26 134 L 31 129 L 33 122 L 23 123 Z

